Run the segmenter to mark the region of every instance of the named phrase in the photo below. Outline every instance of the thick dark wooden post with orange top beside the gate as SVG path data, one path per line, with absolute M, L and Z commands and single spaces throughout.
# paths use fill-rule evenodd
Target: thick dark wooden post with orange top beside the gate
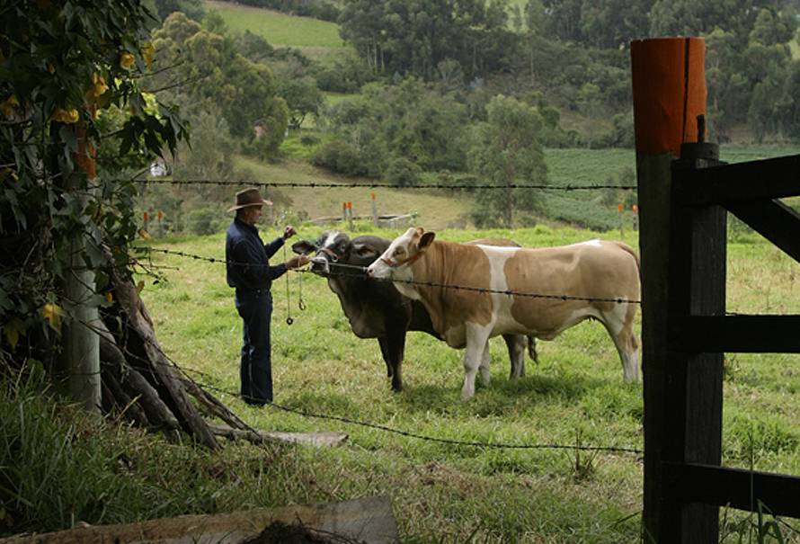
M 706 111 L 704 63 L 701 38 L 631 43 L 643 279 L 644 542 L 716 542 L 718 534 L 715 506 L 680 506 L 664 498 L 671 491 L 666 476 L 669 463 L 692 459 L 719 464 L 718 451 L 711 450 L 719 443 L 716 434 L 721 433 L 721 412 L 716 412 L 721 410 L 721 396 L 716 402 L 716 384 L 700 390 L 706 384 L 696 381 L 697 365 L 687 361 L 687 353 L 670 351 L 667 312 L 676 294 L 668 287 L 675 249 L 670 245 L 671 229 L 691 221 L 674 217 L 670 209 L 671 165 L 680 155 L 680 145 L 698 136 L 697 117 Z M 676 360 L 680 357 L 682 363 Z M 699 402 L 704 395 L 713 397 L 707 405 Z M 709 413 L 698 413 L 700 409 Z M 693 434 L 697 428 L 684 427 L 687 416 L 710 425 L 705 432 L 711 435 L 706 436 L 707 443 L 713 444 L 711 450 L 698 450 L 702 437 Z

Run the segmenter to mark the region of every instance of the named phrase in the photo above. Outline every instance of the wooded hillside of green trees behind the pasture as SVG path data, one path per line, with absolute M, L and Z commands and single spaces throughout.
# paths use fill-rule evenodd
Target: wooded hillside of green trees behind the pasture
M 230 179 L 234 153 L 279 159 L 287 129 L 303 129 L 308 159 L 338 174 L 547 183 L 537 149 L 633 146 L 630 41 L 671 35 L 706 39 L 709 138 L 800 140 L 797 0 L 245 2 L 335 19 L 351 49 L 327 60 L 227 31 L 200 0 L 151 1 L 152 86 L 194 128 L 184 176 Z M 353 96 L 325 105 L 324 92 Z M 529 125 L 503 121 L 514 115 Z M 520 135 L 533 163 L 503 168 L 496 158 L 516 155 L 496 138 Z M 475 196 L 476 222 L 525 221 L 506 202 L 538 205 Z

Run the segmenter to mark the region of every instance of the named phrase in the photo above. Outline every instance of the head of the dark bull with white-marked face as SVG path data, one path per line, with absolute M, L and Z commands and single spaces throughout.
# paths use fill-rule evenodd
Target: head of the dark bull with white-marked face
M 381 242 L 384 242 L 381 245 Z M 354 240 L 338 230 L 328 230 L 316 240 L 300 240 L 292 245 L 297 254 L 314 254 L 311 272 L 324 277 L 362 275 L 363 268 L 378 258 L 387 241 L 375 236 L 359 236 Z

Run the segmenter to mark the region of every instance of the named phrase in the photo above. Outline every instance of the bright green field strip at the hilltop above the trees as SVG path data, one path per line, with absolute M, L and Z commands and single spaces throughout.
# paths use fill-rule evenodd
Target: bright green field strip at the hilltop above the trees
M 215 0 L 206 0 L 205 5 L 217 11 L 232 31 L 251 31 L 271 45 L 298 48 L 312 58 L 334 55 L 345 47 L 333 22 Z

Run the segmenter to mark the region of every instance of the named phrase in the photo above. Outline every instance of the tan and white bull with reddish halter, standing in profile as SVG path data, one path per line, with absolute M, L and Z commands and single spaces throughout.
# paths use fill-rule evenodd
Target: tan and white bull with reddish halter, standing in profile
M 639 262 L 628 245 L 592 240 L 527 249 L 455 244 L 435 236 L 409 228 L 367 273 L 391 279 L 406 297 L 421 300 L 441 337 L 454 348 L 467 347 L 464 400 L 475 393 L 479 368 L 484 383 L 489 382 L 487 340 L 492 336 L 530 334 L 551 340 L 589 318 L 609 332 L 625 379 L 638 379 L 634 317 Z

